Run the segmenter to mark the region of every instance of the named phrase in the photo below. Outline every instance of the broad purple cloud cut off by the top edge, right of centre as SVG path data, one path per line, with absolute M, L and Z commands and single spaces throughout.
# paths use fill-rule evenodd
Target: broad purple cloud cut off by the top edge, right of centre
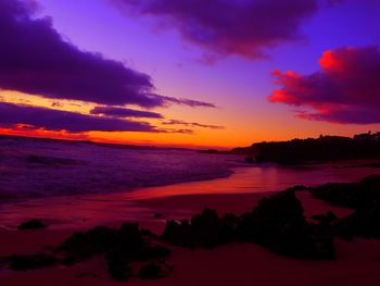
M 318 11 L 318 0 L 110 0 L 129 14 L 157 18 L 160 28 L 175 28 L 206 54 L 266 57 L 265 49 L 303 38 L 302 22 Z

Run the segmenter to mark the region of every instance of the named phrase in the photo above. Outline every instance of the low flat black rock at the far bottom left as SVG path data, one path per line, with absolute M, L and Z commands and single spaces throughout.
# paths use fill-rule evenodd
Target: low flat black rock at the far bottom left
M 15 271 L 34 270 L 52 266 L 58 260 L 53 256 L 37 253 L 33 256 L 12 254 L 4 259 L 9 268 Z

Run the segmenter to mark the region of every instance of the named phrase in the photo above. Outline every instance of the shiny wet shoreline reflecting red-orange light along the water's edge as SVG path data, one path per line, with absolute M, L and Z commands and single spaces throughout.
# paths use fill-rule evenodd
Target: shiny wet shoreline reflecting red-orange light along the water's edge
M 0 226 L 14 229 L 17 224 L 30 217 L 48 220 L 56 228 L 88 227 L 97 223 L 113 221 L 115 217 L 118 217 L 119 221 L 135 221 L 139 217 L 151 221 L 154 212 L 150 210 L 152 204 L 149 201 L 155 199 L 176 202 L 177 206 L 176 203 L 169 206 L 172 209 L 176 209 L 175 212 L 172 212 L 176 217 L 189 215 L 189 212 L 194 210 L 194 208 L 189 208 L 189 206 L 194 204 L 193 201 L 198 201 L 197 206 L 203 208 L 212 208 L 214 204 L 219 206 L 220 203 L 227 206 L 227 202 L 220 199 L 223 197 L 229 198 L 230 208 L 238 210 L 239 207 L 233 206 L 249 203 L 245 200 L 235 199 L 235 197 L 253 198 L 255 194 L 269 195 L 294 185 L 312 186 L 313 182 L 314 185 L 329 182 L 355 182 L 368 174 L 380 174 L 380 169 L 376 167 L 339 169 L 335 166 L 337 164 L 330 164 L 328 166 L 314 165 L 294 169 L 268 164 L 237 167 L 235 173 L 226 178 L 139 188 L 134 191 L 55 196 L 12 201 L 0 204 Z M 187 200 L 187 198 L 190 199 Z M 197 211 L 200 209 L 198 208 Z

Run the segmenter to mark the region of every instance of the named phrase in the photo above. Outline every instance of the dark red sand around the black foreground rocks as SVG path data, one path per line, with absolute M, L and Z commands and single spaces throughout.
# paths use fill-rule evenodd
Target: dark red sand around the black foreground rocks
M 97 200 L 91 200 L 91 196 L 87 200 L 83 200 L 84 206 L 80 208 L 84 213 L 87 211 L 87 214 L 94 214 L 93 210 L 99 207 L 98 203 L 101 201 L 105 213 L 107 212 L 105 206 L 109 206 L 112 215 L 129 213 L 129 217 L 139 222 L 142 227 L 161 233 L 166 219 L 189 217 L 204 207 L 216 209 L 220 214 L 224 212 L 241 213 L 250 211 L 259 198 L 268 195 L 270 192 L 131 199 L 128 203 L 121 203 L 117 207 L 114 203 L 109 206 L 107 202 L 113 200 L 110 200 L 107 195 L 102 195 L 96 196 Z M 297 192 L 297 197 L 303 202 L 306 216 L 327 210 L 334 211 L 339 216 L 351 212 L 315 200 L 307 191 Z M 77 202 L 79 210 L 78 204 L 80 203 Z M 51 204 L 51 208 L 53 207 Z M 163 217 L 154 219 L 156 212 L 162 213 Z M 58 210 L 56 214 L 59 213 Z M 125 216 L 128 217 L 128 215 Z M 85 229 L 93 224 L 119 226 L 123 219 L 105 221 L 102 217 L 98 222 L 97 217 L 97 215 L 91 216 L 83 222 L 81 226 L 80 224 L 60 226 L 58 223 L 60 220 L 58 220 L 55 221 L 58 227 L 52 224 L 51 227 L 40 231 L 20 232 L 2 228 L 0 229 L 0 256 L 15 252 L 33 253 L 50 245 L 56 246 L 71 233 Z M 337 239 L 335 246 L 335 261 L 293 260 L 271 253 L 253 244 L 231 244 L 214 249 L 195 250 L 170 247 L 173 253 L 166 261 L 174 265 L 174 272 L 160 279 L 131 278 L 125 283 L 112 281 L 106 273 L 103 258 L 97 257 L 73 266 L 56 266 L 18 273 L 2 272 L 0 285 L 380 285 L 380 240 L 355 239 L 346 243 Z

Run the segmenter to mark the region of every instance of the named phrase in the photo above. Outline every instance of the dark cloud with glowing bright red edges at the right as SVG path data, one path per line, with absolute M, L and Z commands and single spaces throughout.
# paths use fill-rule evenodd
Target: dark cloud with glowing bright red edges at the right
M 299 108 L 297 116 L 334 123 L 380 123 L 378 47 L 342 47 L 324 52 L 320 70 L 309 75 L 274 71 L 268 100 Z M 306 110 L 305 110 L 306 109 Z

